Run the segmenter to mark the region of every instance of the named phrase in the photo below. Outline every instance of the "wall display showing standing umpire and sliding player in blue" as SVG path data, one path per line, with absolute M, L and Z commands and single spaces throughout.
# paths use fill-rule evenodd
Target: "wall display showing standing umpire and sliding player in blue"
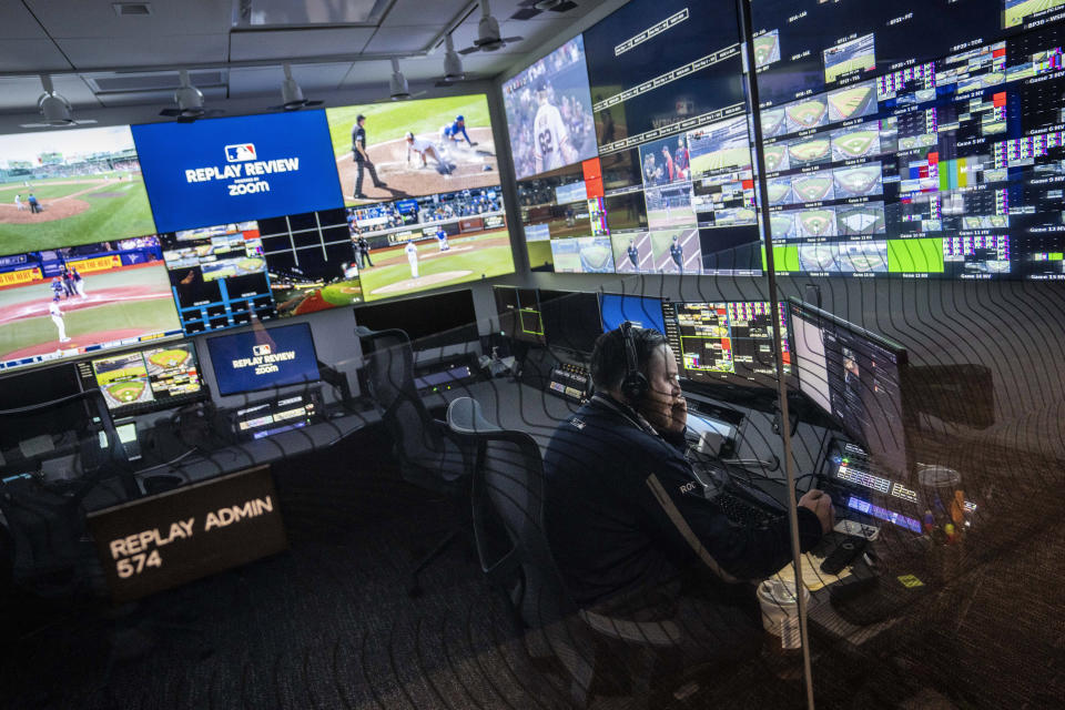
M 326 115 L 347 205 L 499 184 L 484 94 L 339 106 Z

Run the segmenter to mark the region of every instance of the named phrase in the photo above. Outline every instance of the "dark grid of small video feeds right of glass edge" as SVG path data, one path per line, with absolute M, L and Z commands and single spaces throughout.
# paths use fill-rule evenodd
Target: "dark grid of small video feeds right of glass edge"
M 778 271 L 1065 278 L 1061 4 L 752 6 Z

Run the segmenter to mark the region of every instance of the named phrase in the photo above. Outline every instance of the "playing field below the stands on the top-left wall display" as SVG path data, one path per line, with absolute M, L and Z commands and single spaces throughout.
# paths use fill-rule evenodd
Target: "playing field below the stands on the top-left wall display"
M 30 184 L 0 185 L 0 252 L 4 254 L 155 233 L 140 173 L 31 180 Z M 30 192 L 41 202 L 42 212 L 30 212 L 26 203 Z M 22 199 L 21 211 L 14 205 L 16 195 Z

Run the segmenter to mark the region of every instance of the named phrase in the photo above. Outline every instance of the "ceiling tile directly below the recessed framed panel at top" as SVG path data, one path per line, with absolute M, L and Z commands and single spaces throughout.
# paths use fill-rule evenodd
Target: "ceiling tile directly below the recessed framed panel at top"
M 233 32 L 230 37 L 230 59 L 276 59 L 283 62 L 300 57 L 354 57 L 363 51 L 373 33 L 373 28 Z

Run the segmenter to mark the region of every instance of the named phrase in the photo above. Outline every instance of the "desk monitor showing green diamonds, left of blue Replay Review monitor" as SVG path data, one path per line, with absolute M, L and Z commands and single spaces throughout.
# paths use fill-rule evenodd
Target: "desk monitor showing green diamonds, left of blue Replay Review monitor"
M 191 342 L 78 363 L 82 388 L 99 389 L 114 416 L 166 409 L 206 396 Z

